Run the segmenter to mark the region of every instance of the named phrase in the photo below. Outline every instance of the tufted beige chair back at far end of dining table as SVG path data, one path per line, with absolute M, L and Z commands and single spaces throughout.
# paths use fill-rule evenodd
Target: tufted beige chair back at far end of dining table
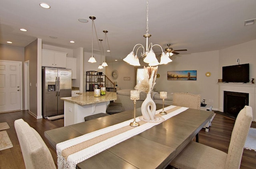
M 200 109 L 200 105 L 201 105 L 200 100 L 201 100 L 200 94 L 195 95 L 195 94 L 185 93 L 185 92 L 174 93 L 172 105 Z

